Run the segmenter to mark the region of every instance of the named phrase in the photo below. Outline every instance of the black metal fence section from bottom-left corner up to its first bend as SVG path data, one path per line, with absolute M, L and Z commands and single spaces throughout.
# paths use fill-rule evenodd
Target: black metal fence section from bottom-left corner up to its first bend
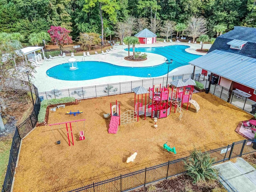
M 10 156 L 9 156 L 9 162 L 7 166 L 6 175 L 4 178 L 4 184 L 2 188 L 2 192 L 10 192 L 12 187 L 12 180 L 14 176 L 14 171 L 18 159 L 18 153 L 20 149 L 20 135 L 18 133 L 18 130 L 15 130 L 14 136 L 12 138 L 12 146 L 10 149 Z

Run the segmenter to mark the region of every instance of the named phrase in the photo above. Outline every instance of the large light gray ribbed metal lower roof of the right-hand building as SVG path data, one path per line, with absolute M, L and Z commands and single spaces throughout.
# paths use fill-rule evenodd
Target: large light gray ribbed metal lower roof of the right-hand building
M 256 89 L 256 58 L 214 50 L 189 64 Z

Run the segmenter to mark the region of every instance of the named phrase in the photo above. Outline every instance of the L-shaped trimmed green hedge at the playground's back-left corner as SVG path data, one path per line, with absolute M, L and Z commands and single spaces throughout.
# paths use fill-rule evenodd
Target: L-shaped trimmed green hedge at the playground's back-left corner
M 74 102 L 75 100 L 76 99 L 74 97 L 64 97 L 64 98 L 60 98 L 60 99 L 43 100 L 41 102 L 40 111 L 38 114 L 38 122 L 40 122 L 40 123 L 44 122 L 47 106 L 54 105 L 54 104 L 60 104 L 60 103 Z

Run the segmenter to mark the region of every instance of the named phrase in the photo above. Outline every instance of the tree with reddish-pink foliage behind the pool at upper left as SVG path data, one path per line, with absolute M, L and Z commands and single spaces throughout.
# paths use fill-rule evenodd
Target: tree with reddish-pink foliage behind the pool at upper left
M 62 54 L 62 48 L 64 44 L 72 43 L 72 38 L 68 35 L 70 33 L 69 30 L 61 26 L 51 26 L 48 30 L 50 37 L 52 38 L 52 42 L 58 45 L 60 48 L 60 54 Z

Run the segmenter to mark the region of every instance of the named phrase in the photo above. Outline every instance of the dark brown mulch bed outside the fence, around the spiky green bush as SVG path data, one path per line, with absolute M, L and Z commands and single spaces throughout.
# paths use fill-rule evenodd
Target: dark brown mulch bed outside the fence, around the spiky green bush
M 219 189 L 218 192 L 226 192 L 218 180 L 194 184 L 189 176 L 183 174 L 132 192 L 212 192 L 216 188 Z

